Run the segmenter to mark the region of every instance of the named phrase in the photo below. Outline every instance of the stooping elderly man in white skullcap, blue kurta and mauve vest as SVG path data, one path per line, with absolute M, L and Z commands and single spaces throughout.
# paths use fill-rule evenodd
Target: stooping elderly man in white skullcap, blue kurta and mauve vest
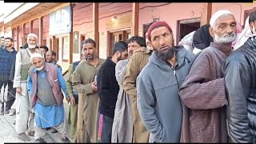
M 34 138 L 36 142 L 45 142 L 47 127 L 54 127 L 62 134 L 62 142 L 70 142 L 66 137 L 66 117 L 63 106 L 63 94 L 66 98 L 66 82 L 58 66 L 45 62 L 42 54 L 30 57 L 34 68 L 29 70 L 27 78 L 28 93 L 33 99 Z M 62 90 L 61 90 L 62 89 Z

